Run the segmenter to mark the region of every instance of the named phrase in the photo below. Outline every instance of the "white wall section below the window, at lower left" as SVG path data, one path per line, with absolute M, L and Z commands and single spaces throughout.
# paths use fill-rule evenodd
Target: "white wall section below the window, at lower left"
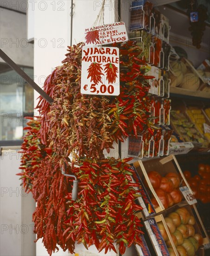
M 20 172 L 20 154 L 3 150 L 0 156 L 0 255 L 34 256 L 35 235 L 32 213 L 35 202 L 25 194 L 16 174 Z

